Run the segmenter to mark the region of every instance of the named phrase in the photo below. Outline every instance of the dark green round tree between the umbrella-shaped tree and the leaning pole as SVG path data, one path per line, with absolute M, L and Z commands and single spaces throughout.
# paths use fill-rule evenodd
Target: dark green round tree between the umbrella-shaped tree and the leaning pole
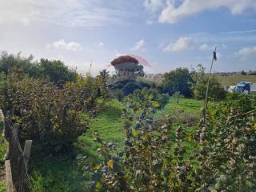
M 166 93 L 174 94 L 179 91 L 184 96 L 191 96 L 190 82 L 192 78 L 187 68 L 177 68 L 164 74 L 162 81 L 163 90 Z

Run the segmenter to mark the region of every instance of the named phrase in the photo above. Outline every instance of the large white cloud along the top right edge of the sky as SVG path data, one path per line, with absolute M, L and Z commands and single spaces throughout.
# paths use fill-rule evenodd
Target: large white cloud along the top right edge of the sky
M 167 0 L 167 5 L 158 18 L 159 22 L 174 23 L 182 18 L 220 7 L 226 7 L 232 14 L 242 14 L 245 10 L 256 8 L 256 0 L 183 0 L 178 6 L 175 2 L 175 0 Z

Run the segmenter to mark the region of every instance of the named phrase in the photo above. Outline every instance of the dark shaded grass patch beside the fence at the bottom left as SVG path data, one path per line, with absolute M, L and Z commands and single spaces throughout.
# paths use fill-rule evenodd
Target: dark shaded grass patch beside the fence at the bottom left
M 37 192 L 86 191 L 86 178 L 74 157 L 32 159 L 30 182 Z

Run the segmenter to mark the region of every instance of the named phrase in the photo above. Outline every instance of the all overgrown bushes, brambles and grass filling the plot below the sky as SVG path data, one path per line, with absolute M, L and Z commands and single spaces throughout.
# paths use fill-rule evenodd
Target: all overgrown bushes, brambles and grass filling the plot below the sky
M 34 191 L 256 190 L 256 98 L 226 95 L 213 77 L 200 119 L 203 66 L 166 73 L 162 87 L 107 86 L 106 70 L 82 77 L 62 62 L 19 54 L 2 54 L 0 70 L 0 106 L 21 124 L 21 141 L 34 141 Z

